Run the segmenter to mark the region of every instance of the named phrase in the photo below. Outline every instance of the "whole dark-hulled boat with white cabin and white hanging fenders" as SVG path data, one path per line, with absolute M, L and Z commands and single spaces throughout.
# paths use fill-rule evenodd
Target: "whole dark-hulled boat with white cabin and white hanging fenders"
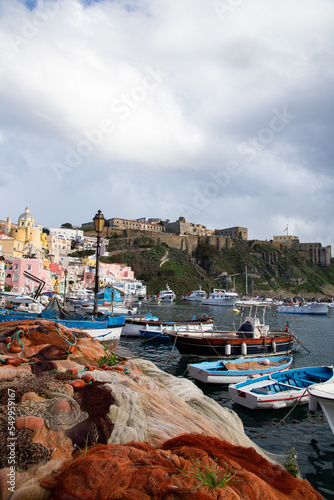
M 170 339 L 182 356 L 201 358 L 238 358 L 240 356 L 283 356 L 292 351 L 294 335 L 285 331 L 271 331 L 257 317 L 257 308 L 252 308 L 245 319 L 240 318 L 240 327 L 235 331 L 191 332 L 189 330 L 167 331 Z

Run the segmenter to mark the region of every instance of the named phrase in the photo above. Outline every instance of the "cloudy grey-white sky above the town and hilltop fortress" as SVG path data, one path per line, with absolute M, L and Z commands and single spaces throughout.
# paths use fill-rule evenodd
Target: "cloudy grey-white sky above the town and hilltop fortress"
M 334 245 L 333 0 L 0 0 L 0 219 Z

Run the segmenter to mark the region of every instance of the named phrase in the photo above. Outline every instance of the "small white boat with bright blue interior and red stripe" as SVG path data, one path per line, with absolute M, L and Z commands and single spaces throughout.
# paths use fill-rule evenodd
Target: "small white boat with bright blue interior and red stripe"
M 228 386 L 234 403 L 250 409 L 280 409 L 309 401 L 314 384 L 333 382 L 333 366 L 311 366 L 248 379 Z

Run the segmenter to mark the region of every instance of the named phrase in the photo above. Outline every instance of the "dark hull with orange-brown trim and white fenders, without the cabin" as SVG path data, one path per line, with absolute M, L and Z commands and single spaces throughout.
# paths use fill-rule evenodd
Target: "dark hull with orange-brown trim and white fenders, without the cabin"
M 262 357 L 288 354 L 293 348 L 289 333 L 270 333 L 266 337 L 243 338 L 236 335 L 215 336 L 215 332 L 202 336 L 168 332 L 169 338 L 182 356 L 201 358 Z M 243 345 L 244 344 L 244 345 Z

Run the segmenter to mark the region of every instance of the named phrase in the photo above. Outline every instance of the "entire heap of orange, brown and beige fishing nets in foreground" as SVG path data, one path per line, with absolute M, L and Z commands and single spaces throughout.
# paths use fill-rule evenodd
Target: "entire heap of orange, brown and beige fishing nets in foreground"
M 88 334 L 3 323 L 0 359 L 3 500 L 322 498 L 191 381 Z

